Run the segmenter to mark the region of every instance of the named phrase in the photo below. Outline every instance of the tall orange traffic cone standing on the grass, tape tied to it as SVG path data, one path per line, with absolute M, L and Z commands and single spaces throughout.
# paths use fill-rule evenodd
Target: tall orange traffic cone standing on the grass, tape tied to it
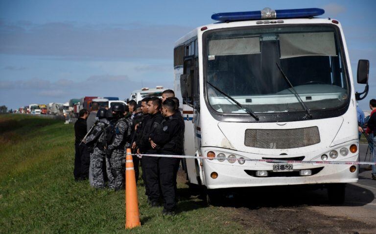
M 125 160 L 125 228 L 131 229 L 141 226 L 141 222 L 135 168 L 133 167 L 130 148 L 127 148 L 127 157 Z

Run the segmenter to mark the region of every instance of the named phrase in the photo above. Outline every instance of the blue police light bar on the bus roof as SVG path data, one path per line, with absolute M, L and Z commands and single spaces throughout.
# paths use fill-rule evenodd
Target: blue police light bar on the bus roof
M 324 9 L 321 8 L 272 10 L 269 7 L 266 7 L 261 11 L 216 13 L 211 15 L 211 19 L 215 21 L 229 22 L 263 19 L 305 18 L 320 16 L 324 13 Z

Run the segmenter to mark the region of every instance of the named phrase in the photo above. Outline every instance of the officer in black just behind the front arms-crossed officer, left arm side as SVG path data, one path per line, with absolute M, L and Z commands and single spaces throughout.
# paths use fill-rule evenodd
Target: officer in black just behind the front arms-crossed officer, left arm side
M 141 139 L 139 140 L 139 152 L 144 154 L 157 154 L 157 150 L 150 145 L 150 134 L 156 133 L 161 129 L 163 116 L 160 112 L 161 99 L 151 97 L 147 102 L 149 117 L 142 127 Z M 159 200 L 159 183 L 158 183 L 158 158 L 142 157 L 142 169 L 145 171 L 145 190 L 148 201 L 151 206 L 158 206 Z

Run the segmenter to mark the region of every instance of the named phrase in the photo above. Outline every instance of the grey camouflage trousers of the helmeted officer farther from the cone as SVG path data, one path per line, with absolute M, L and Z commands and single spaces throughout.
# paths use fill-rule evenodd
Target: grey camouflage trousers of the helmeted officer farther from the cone
M 104 188 L 104 175 L 103 175 L 103 161 L 106 158 L 105 152 L 94 148 L 93 153 L 90 154 L 90 186 L 95 188 Z

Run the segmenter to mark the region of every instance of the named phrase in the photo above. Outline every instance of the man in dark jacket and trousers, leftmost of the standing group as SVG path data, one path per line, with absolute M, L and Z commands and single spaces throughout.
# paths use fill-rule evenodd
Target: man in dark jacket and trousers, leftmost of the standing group
M 74 155 L 73 175 L 75 181 L 86 180 L 88 178 L 90 165 L 90 154 L 85 143 L 81 143 L 87 133 L 86 118 L 89 112 L 86 109 L 82 109 L 78 115 L 79 117 L 74 123 L 74 148 L 76 152 Z

